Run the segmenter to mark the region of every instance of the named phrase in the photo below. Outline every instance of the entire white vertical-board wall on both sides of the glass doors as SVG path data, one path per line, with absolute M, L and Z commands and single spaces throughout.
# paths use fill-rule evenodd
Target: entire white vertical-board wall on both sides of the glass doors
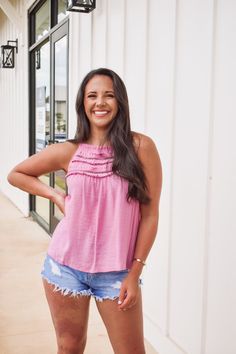
M 2 44 L 13 29 L 0 16 Z M 70 136 L 81 79 L 108 66 L 127 85 L 133 130 L 150 135 L 162 159 L 159 231 L 143 275 L 145 334 L 160 354 L 236 352 L 235 18 L 234 0 L 98 0 L 92 14 L 70 15 Z M 26 210 L 4 180 L 28 151 L 27 85 L 9 80 L 22 68 L 27 77 L 18 63 L 0 69 L 11 134 L 0 142 L 0 176 Z

